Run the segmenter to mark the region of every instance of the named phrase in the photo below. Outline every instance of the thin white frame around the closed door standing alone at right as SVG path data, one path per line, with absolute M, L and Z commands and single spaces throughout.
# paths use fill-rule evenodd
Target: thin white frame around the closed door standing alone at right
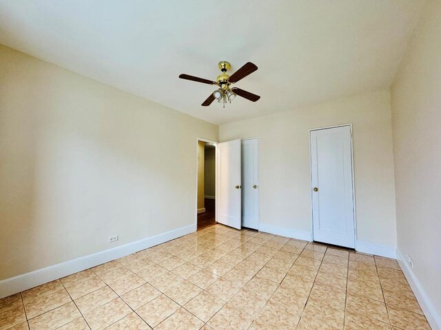
M 312 206 L 312 164 L 311 164 L 311 132 L 321 131 L 322 129 L 336 129 L 337 127 L 349 126 L 351 129 L 351 169 L 352 169 L 352 210 L 353 210 L 353 243 L 355 250 L 357 250 L 357 212 L 356 212 L 356 177 L 354 170 L 354 159 L 353 159 L 353 129 L 352 123 L 339 124 L 333 126 L 324 126 L 317 129 L 309 129 L 309 183 L 310 183 L 310 193 L 311 193 L 311 242 L 314 241 L 314 214 Z

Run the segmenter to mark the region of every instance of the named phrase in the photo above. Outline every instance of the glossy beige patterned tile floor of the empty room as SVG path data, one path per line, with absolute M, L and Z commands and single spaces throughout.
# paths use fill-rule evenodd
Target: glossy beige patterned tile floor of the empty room
M 1 299 L 29 328 L 430 329 L 396 261 L 223 225 Z

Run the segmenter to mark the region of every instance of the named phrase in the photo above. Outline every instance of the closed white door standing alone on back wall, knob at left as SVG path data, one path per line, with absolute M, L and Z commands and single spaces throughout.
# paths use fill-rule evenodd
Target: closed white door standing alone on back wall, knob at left
M 355 248 L 351 126 L 311 131 L 314 241 Z

